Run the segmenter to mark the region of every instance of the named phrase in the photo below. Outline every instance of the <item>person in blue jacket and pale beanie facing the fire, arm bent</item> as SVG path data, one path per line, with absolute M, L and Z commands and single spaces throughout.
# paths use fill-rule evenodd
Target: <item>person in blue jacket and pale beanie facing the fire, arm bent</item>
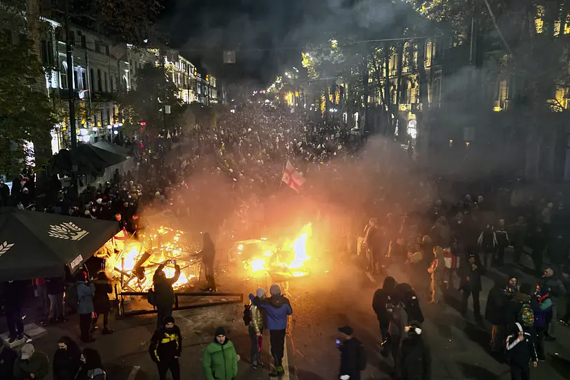
M 271 297 L 267 300 L 254 298 L 254 305 L 265 309 L 267 313 L 267 329 L 269 330 L 269 343 L 271 354 L 275 361 L 276 376 L 285 373 L 283 369 L 283 352 L 285 350 L 285 334 L 287 333 L 287 316 L 293 314 L 293 309 L 289 300 L 281 295 L 281 287 L 277 284 L 269 288 Z

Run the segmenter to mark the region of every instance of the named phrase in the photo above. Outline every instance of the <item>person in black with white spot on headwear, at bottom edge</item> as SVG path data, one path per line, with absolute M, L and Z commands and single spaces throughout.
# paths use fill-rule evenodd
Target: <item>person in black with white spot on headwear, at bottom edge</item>
M 408 336 L 401 345 L 401 380 L 429 380 L 431 378 L 431 354 L 424 341 L 418 321 L 411 321 L 404 329 Z

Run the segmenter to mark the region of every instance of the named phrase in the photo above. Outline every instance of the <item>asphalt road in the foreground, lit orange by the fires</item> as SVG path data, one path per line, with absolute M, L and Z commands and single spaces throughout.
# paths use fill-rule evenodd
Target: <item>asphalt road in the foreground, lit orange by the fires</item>
M 379 354 L 379 327 L 371 307 L 372 294 L 381 284 L 382 278 L 376 278 L 377 283 L 372 283 L 353 263 L 342 258 L 321 258 L 317 261 L 314 267 L 318 269 L 313 270 L 310 276 L 289 283 L 289 298 L 294 310 L 287 338 L 289 378 L 338 379 L 339 353 L 334 347 L 336 329 L 341 325 L 351 325 L 368 354 L 368 368 L 363 373 L 363 379 L 389 379 L 392 361 Z M 509 268 L 509 271 L 512 269 Z M 390 268 L 388 272 L 399 281 L 405 280 L 398 268 Z M 523 281 L 533 281 L 524 271 L 519 272 Z M 491 271 L 490 274 L 491 277 L 501 275 L 496 271 Z M 240 288 L 239 291 L 244 292 L 247 299 L 247 292 L 253 291 L 258 285 L 266 286 L 269 281 L 265 278 L 247 282 L 237 279 L 225 281 L 222 278 L 220 282 L 222 291 L 236 291 Z M 491 279 L 484 278 L 482 310 L 492 285 Z M 486 351 L 490 338 L 488 325 L 475 324 L 472 312 L 469 314 L 470 319 L 462 319 L 459 312 L 448 305 L 423 303 L 423 308 L 426 314 L 425 339 L 433 355 L 434 380 L 510 379 L 509 368 L 497 363 Z M 269 377 L 268 336 L 265 336 L 264 342 L 266 368 L 255 371 L 249 369 L 249 338 L 243 325 L 242 311 L 243 305 L 238 304 L 175 312 L 175 319 L 184 335 L 180 359 L 182 379 L 203 378 L 202 354 L 219 325 L 227 328 L 229 339 L 234 341 L 241 357 L 236 379 Z M 115 334 L 97 336 L 97 341 L 90 345 L 102 354 L 110 378 L 157 379 L 157 370 L 147 352 L 155 317 L 135 316 L 113 320 L 112 324 Z M 59 336 L 77 337 L 77 334 L 77 321 L 72 318 L 64 325 L 48 327 L 48 334 L 34 344 L 37 350 L 53 357 Z M 533 378 L 570 378 L 569 339 L 570 329 L 560 326 L 557 341 L 546 343 L 548 359 L 532 370 Z

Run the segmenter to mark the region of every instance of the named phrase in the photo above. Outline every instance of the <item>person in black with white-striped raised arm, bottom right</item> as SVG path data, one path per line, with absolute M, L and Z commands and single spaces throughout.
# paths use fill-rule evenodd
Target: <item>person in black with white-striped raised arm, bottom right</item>
M 529 332 L 524 332 L 520 323 L 515 323 L 513 333 L 506 338 L 507 363 L 511 368 L 511 380 L 530 380 L 531 368 L 538 365 L 535 345 Z

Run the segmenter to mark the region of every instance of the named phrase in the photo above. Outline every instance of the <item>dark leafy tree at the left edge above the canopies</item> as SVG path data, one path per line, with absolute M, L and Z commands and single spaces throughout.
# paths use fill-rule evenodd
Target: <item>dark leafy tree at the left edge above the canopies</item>
M 0 173 L 14 174 L 26 166 L 32 151 L 27 142 L 48 145 L 58 122 L 48 97 L 35 91 L 43 70 L 27 40 L 0 41 Z M 43 162 L 35 162 L 37 166 Z

